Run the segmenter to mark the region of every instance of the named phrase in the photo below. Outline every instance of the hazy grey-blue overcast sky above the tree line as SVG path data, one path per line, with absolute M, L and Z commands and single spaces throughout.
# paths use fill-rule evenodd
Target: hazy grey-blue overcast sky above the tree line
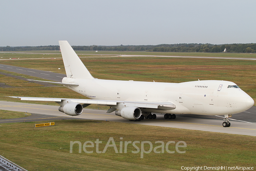
M 1 0 L 0 46 L 256 43 L 256 1 Z

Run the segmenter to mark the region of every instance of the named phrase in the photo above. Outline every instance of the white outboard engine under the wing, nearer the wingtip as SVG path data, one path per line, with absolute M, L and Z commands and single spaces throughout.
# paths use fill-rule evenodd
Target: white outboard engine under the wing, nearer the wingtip
M 77 116 L 83 112 L 83 106 L 79 103 L 68 103 L 59 107 L 59 111 L 71 116 Z

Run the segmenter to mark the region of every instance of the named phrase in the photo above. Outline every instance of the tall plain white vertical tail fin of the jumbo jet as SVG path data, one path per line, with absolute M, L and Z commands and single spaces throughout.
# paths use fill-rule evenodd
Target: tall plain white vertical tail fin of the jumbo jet
M 94 79 L 67 41 L 59 41 L 67 77 Z

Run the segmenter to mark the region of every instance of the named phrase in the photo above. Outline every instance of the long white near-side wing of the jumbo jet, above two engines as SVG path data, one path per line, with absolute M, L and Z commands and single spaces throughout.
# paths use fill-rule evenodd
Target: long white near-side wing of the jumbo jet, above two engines
M 176 108 L 176 106 L 170 102 L 137 102 L 137 101 L 113 101 L 113 100 L 65 99 L 65 98 L 41 98 L 41 97 L 17 97 L 17 96 L 8 96 L 8 97 L 19 98 L 20 100 L 27 100 L 27 101 L 62 102 L 64 100 L 70 100 L 74 103 L 108 105 L 108 106 L 115 106 L 117 105 L 117 103 L 125 103 L 133 107 L 151 108 L 151 109 L 160 109 L 160 110 L 172 110 Z

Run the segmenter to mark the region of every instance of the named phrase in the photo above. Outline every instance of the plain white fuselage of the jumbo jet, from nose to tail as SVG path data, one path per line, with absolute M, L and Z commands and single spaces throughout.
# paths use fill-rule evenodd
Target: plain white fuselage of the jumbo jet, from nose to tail
M 113 101 L 170 102 L 173 110 L 143 109 L 144 112 L 225 115 L 243 112 L 253 99 L 235 83 L 219 80 L 183 83 L 75 79 L 78 87 L 68 88 L 90 98 Z M 73 78 L 63 79 L 73 82 Z M 229 87 L 228 86 L 233 86 Z

